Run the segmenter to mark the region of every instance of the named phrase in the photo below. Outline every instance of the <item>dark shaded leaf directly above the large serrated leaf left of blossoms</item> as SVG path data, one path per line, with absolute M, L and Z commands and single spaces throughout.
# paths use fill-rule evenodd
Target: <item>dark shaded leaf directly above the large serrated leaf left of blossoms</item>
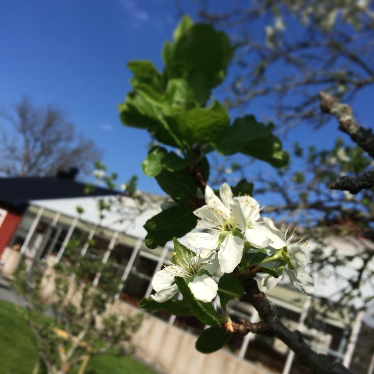
M 157 176 L 159 186 L 178 204 L 187 204 L 196 195 L 198 185 L 188 170 L 168 171 L 163 169 Z

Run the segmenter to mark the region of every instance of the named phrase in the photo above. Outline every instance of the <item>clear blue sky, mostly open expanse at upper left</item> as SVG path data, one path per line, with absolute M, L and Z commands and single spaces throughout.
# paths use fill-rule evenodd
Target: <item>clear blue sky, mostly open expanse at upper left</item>
M 193 13 L 192 4 L 184 1 L 184 9 Z M 225 2 L 214 4 L 222 8 Z M 175 2 L 168 0 L 2 1 L 0 108 L 9 109 L 23 95 L 37 105 L 58 104 L 104 150 L 104 163 L 121 180 L 138 174 L 140 189 L 160 192 L 141 171 L 148 134 L 124 127 L 116 105 L 131 89 L 127 61 L 150 59 L 162 68 L 161 47 L 171 38 L 176 14 Z M 364 122 L 373 113 L 369 101 L 355 107 Z M 271 116 L 260 104 L 250 111 Z M 300 126 L 284 145 L 304 139 L 303 144 L 328 147 L 337 134 L 336 124 L 318 132 Z

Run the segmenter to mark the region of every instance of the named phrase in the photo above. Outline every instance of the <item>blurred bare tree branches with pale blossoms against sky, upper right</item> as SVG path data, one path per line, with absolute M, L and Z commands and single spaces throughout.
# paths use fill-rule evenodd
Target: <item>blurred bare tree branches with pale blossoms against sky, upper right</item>
M 328 120 L 318 110 L 319 91 L 347 102 L 374 84 L 371 0 L 257 0 L 226 11 L 198 3 L 200 17 L 239 46 L 241 70 L 228 87 L 229 108 L 277 98 L 286 129 L 305 120 L 318 127 Z

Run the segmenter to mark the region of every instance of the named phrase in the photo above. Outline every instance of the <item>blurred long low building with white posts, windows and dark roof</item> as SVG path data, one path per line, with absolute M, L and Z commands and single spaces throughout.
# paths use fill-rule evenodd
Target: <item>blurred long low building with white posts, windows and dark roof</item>
M 171 259 L 168 245 L 151 250 L 144 244 L 143 224 L 160 210 L 161 197 L 147 195 L 147 203 L 139 206 L 131 197 L 122 196 L 120 209 L 98 214 L 98 200 L 113 201 L 112 191 L 97 187 L 94 193 L 84 194 L 84 185 L 69 173 L 56 178 L 1 178 L 0 191 L 5 212 L 0 232 L 4 235 L 11 231 L 2 242 L 0 261 L 5 277 L 11 277 L 20 254 L 26 256 L 29 266 L 43 260 L 59 262 L 67 243 L 78 239 L 84 243 L 82 254 L 100 259 L 113 277 L 121 279 L 118 302 L 126 312 L 138 308 L 140 300 L 151 295 L 153 274 Z M 100 274 L 91 281 L 99 284 Z M 360 334 L 372 332 L 363 322 L 363 313 L 350 316 L 330 310 L 323 323 L 313 318 L 306 321 L 311 303 L 318 304 L 318 298 L 311 300 L 287 284 L 267 295 L 277 304 L 284 322 L 301 330 L 315 350 L 346 366 L 351 364 L 354 373 L 370 373 L 374 347 L 366 344 L 363 358 L 357 344 Z M 230 302 L 229 312 L 232 319 L 258 319 L 254 308 L 245 303 Z M 202 355 L 195 350 L 194 342 L 204 328 L 193 317 L 156 312 L 137 334 L 138 355 L 166 373 L 307 373 L 281 341 L 261 335 L 232 336 L 224 350 Z

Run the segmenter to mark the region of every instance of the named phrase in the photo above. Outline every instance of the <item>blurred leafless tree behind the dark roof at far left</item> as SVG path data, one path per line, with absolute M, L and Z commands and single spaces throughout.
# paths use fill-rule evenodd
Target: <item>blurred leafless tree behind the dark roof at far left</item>
M 93 141 L 77 134 L 75 125 L 58 107 L 38 108 L 25 97 L 15 105 L 14 112 L 15 116 L 1 114 L 0 173 L 50 176 L 71 167 L 89 173 L 93 162 L 101 158 Z

